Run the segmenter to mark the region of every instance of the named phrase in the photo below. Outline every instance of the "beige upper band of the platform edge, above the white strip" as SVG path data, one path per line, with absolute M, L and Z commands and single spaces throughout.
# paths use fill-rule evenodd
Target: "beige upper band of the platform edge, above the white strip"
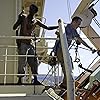
M 41 94 L 45 86 L 42 85 L 0 85 L 0 94 L 19 94 L 26 95 Z

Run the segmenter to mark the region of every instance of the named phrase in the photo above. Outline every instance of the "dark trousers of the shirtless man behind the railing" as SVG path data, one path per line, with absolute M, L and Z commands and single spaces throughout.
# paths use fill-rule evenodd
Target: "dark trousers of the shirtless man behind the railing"
M 18 48 L 19 55 L 33 55 L 35 54 L 34 47 L 31 44 L 21 43 Z M 32 74 L 38 74 L 38 60 L 37 57 L 18 57 L 18 74 L 25 73 L 26 64 L 29 64 L 31 67 Z M 23 76 L 18 76 L 23 77 Z

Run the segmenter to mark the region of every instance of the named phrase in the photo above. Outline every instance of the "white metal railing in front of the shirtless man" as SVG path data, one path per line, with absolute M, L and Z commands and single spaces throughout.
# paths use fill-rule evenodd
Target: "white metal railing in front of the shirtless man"
M 28 36 L 0 36 L 0 38 L 2 39 L 33 39 L 34 40 L 34 37 L 28 37 Z M 57 38 L 44 38 L 44 37 L 36 37 L 36 39 L 47 39 L 47 40 L 57 40 Z M 8 48 L 17 48 L 16 45 L 0 45 L 0 48 L 5 48 L 8 52 Z M 37 48 L 43 48 L 43 49 L 52 49 L 53 47 L 45 47 L 45 46 L 37 46 Z M 6 84 L 6 76 L 17 76 L 17 75 L 25 75 L 25 76 L 30 76 L 30 74 L 7 74 L 7 62 L 8 61 L 12 61 L 12 62 L 17 62 L 18 60 L 8 60 L 7 57 L 34 57 L 34 55 L 8 55 L 6 52 L 6 54 L 4 55 L 0 55 L 2 57 L 5 57 L 4 60 L 0 60 L 0 62 L 5 62 L 5 72 L 4 74 L 0 74 L 0 76 L 4 76 L 4 84 Z M 38 57 L 42 57 L 40 55 L 38 55 Z M 44 57 L 44 56 L 43 56 Z M 47 57 L 47 56 L 45 56 Z M 43 61 L 43 60 L 39 60 L 39 61 Z M 59 69 L 58 69 L 59 70 Z M 54 73 L 54 71 L 53 71 Z M 33 75 L 33 74 L 31 74 Z

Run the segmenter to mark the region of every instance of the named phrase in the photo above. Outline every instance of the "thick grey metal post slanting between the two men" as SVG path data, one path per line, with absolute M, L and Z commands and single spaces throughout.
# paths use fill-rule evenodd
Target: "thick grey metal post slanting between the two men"
M 72 64 L 70 59 L 70 54 L 68 51 L 68 43 L 65 33 L 65 27 L 63 21 L 61 19 L 58 20 L 59 24 L 59 32 L 60 32 L 60 39 L 61 39 L 61 46 L 67 76 L 67 100 L 75 100 L 75 86 L 74 86 L 74 78 L 72 72 Z

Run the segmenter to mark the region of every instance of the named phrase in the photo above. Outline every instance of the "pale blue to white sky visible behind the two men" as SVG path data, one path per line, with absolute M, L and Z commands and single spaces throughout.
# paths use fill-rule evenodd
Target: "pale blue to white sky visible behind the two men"
M 71 22 L 71 16 L 73 15 L 75 9 L 78 7 L 81 0 L 45 0 L 45 7 L 44 7 L 44 17 L 46 18 L 46 25 L 52 26 L 52 25 L 58 25 L 58 19 L 61 18 L 64 23 L 70 23 Z M 100 4 L 100 2 L 99 2 Z M 97 6 L 98 7 L 98 6 Z M 98 12 L 97 12 L 98 13 Z M 99 29 L 100 30 L 100 29 Z M 45 37 L 56 37 L 55 32 L 56 30 L 46 30 Z M 99 31 L 98 31 L 99 32 Z M 78 31 L 81 37 L 85 37 L 85 35 Z M 86 38 L 86 37 L 85 37 Z M 91 47 L 94 48 L 94 46 L 90 43 L 88 39 L 85 39 L 87 44 L 89 44 Z M 47 41 L 48 45 L 53 47 L 54 41 Z M 81 47 L 84 48 L 83 45 Z M 82 48 L 79 48 L 79 58 L 83 65 L 83 67 L 88 68 L 89 64 L 97 57 L 97 54 L 92 54 L 91 51 L 85 50 Z M 70 54 L 73 58 L 73 61 L 75 59 L 75 49 L 70 50 Z M 82 71 L 78 67 L 77 63 L 74 64 L 74 76 L 78 76 Z M 40 65 L 39 66 L 39 73 L 44 74 L 47 73 L 49 66 L 48 65 Z M 45 70 L 44 70 L 45 69 Z

